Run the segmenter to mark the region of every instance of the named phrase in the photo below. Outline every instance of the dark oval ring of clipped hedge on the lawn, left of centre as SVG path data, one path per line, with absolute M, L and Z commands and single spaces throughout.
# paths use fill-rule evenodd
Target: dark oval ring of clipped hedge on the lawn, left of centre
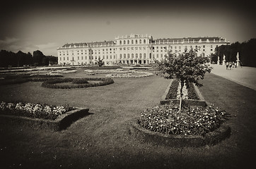
M 88 81 L 88 80 L 93 80 L 93 81 L 100 81 L 98 83 L 82 83 L 82 84 L 59 84 L 59 83 L 64 83 L 64 82 L 74 82 L 77 81 L 77 79 L 74 78 L 56 78 L 54 80 L 47 80 L 45 82 L 42 82 L 42 87 L 47 87 L 47 88 L 53 88 L 53 89 L 73 89 L 73 88 L 84 88 L 84 87 L 98 87 L 98 86 L 103 86 L 107 84 L 112 84 L 114 83 L 114 80 L 110 78 L 80 78 L 78 81 Z

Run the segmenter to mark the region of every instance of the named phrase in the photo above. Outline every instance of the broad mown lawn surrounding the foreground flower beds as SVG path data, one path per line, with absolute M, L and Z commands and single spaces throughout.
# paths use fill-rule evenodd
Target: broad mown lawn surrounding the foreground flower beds
M 65 75 L 84 77 L 83 71 Z M 95 77 L 100 77 L 96 75 Z M 129 120 L 159 104 L 169 80 L 155 75 L 114 79 L 86 89 L 47 89 L 42 82 L 0 87 L 0 100 L 69 104 L 90 113 L 61 132 L 35 130 L 0 118 L 0 163 L 8 168 L 240 168 L 255 164 L 256 92 L 213 74 L 200 88 L 206 101 L 231 113 L 232 134 L 215 146 L 170 148 L 141 144 Z

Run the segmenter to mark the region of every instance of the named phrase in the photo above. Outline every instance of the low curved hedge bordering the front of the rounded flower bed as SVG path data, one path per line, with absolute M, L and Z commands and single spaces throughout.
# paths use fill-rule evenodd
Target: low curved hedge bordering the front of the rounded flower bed
M 131 134 L 136 137 L 136 139 L 139 139 L 139 142 L 171 147 L 199 147 L 205 145 L 215 145 L 231 135 L 231 127 L 226 124 L 222 124 L 217 130 L 207 133 L 204 137 L 197 135 L 184 136 L 162 134 L 159 132 L 146 130 L 134 119 L 131 121 L 130 131 Z

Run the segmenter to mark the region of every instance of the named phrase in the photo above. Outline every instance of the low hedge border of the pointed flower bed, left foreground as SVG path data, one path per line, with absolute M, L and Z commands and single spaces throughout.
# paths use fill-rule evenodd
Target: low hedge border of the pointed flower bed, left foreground
M 28 118 L 16 115 L 0 115 L 0 118 L 5 118 L 13 122 L 23 123 L 29 127 L 36 127 L 40 129 L 50 129 L 54 131 L 64 130 L 69 127 L 71 123 L 89 115 L 89 108 L 76 108 L 73 111 L 68 111 L 59 115 L 55 120 L 45 120 L 40 118 Z

